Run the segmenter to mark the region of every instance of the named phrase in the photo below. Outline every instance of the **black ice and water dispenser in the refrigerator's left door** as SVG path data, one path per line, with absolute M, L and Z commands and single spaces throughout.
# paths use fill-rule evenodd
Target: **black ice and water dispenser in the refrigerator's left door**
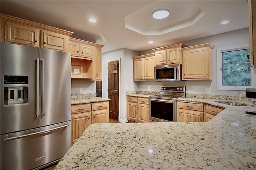
M 4 106 L 28 103 L 28 76 L 4 75 Z

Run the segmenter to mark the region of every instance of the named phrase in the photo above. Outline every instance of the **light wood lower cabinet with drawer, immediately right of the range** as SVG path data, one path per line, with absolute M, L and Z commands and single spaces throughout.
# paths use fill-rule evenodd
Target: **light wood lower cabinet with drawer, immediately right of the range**
M 177 122 L 204 121 L 204 105 L 202 103 L 177 101 Z

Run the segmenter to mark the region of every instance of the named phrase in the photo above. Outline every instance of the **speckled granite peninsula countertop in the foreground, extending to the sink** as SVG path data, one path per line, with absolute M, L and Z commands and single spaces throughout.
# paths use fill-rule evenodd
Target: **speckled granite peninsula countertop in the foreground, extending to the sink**
M 255 169 L 255 107 L 225 107 L 208 122 L 92 124 L 56 169 Z

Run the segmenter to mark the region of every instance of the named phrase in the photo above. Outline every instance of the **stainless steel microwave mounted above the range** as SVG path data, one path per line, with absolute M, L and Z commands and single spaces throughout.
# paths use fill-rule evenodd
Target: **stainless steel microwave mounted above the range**
M 155 81 L 181 81 L 182 64 L 154 67 Z

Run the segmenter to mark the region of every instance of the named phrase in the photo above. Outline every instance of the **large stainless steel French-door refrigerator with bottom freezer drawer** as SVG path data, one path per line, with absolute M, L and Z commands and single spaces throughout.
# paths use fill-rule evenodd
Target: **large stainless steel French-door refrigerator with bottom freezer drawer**
M 0 169 L 57 162 L 71 147 L 70 53 L 0 47 Z

